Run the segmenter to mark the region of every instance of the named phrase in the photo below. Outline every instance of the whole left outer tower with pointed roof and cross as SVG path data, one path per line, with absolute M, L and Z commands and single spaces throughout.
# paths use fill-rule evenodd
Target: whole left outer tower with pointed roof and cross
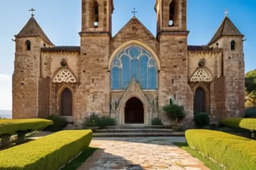
M 32 11 L 35 11 L 32 9 Z M 42 78 L 40 77 L 40 53 L 44 46 L 54 46 L 46 36 L 34 15 L 15 35 L 15 62 L 13 72 L 13 118 L 37 118 L 44 110 Z M 46 89 L 46 88 L 45 88 Z M 49 108 L 45 104 L 46 108 Z

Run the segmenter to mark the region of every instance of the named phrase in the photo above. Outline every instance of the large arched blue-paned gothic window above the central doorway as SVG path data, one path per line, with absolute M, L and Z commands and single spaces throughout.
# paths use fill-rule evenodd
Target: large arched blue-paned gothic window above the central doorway
M 138 45 L 127 46 L 116 55 L 111 66 L 111 89 L 127 89 L 132 79 L 141 89 L 157 89 L 156 60 Z

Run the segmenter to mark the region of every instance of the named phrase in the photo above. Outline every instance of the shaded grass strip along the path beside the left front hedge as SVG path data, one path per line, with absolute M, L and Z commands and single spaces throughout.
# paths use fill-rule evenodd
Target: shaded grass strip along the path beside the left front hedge
M 88 157 L 92 155 L 93 152 L 95 152 L 98 148 L 86 148 L 83 150 L 81 155 L 77 157 L 77 159 L 72 160 L 70 164 L 67 164 L 67 166 L 63 167 L 61 170 L 76 170 L 78 167 L 80 167 Z

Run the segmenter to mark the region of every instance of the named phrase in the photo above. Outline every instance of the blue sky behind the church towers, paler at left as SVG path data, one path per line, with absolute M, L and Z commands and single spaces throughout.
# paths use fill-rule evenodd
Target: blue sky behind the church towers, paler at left
M 132 17 L 137 18 L 156 35 L 155 0 L 114 0 L 113 35 Z M 35 8 L 35 18 L 55 45 L 79 45 L 81 31 L 81 0 L 8 0 L 0 2 L 0 110 L 12 106 L 12 73 L 15 43 L 12 41 L 28 22 Z M 205 45 L 212 38 L 224 18 L 234 22 L 245 38 L 246 72 L 256 69 L 256 1 L 255 0 L 188 0 L 189 45 Z

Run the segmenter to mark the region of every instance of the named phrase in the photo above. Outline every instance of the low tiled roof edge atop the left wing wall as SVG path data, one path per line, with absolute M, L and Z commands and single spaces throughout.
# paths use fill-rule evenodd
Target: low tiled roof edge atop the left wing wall
M 42 52 L 80 52 L 80 46 L 53 46 L 41 48 Z

